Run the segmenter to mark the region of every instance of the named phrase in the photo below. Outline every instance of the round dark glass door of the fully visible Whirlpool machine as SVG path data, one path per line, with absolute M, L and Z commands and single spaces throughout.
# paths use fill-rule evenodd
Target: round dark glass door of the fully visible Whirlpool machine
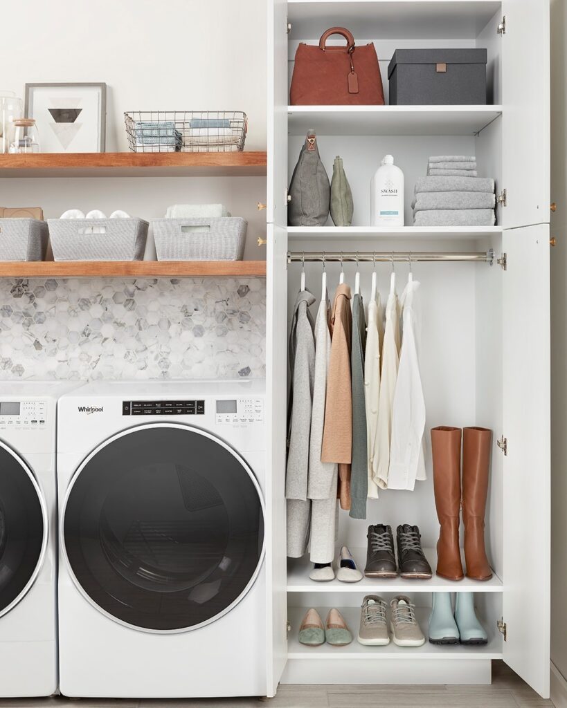
M 182 632 L 214 622 L 262 562 L 264 507 L 246 462 L 202 430 L 130 428 L 77 469 L 62 513 L 74 581 L 118 622 Z

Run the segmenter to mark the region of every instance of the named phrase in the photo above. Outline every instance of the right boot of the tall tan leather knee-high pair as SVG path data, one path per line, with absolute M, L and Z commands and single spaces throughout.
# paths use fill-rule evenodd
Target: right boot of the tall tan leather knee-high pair
M 463 430 L 463 523 L 465 527 L 466 576 L 474 580 L 490 580 L 484 545 L 484 514 L 488 496 L 488 469 L 492 430 Z

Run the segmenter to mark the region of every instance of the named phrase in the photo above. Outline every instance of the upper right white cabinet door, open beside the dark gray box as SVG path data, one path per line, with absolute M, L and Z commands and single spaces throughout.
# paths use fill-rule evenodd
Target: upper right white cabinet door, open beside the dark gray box
M 503 0 L 505 229 L 549 223 L 549 0 Z

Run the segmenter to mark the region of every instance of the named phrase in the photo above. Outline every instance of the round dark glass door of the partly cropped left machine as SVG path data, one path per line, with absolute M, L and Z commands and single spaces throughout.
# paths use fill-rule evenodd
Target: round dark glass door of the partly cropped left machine
M 47 544 L 47 513 L 23 460 L 0 442 L 0 615 L 35 581 Z

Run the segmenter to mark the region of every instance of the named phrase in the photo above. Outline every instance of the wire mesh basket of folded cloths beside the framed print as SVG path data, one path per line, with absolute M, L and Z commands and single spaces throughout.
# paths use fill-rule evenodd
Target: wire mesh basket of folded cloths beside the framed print
M 132 152 L 237 152 L 247 130 L 240 110 L 134 110 L 124 122 Z

